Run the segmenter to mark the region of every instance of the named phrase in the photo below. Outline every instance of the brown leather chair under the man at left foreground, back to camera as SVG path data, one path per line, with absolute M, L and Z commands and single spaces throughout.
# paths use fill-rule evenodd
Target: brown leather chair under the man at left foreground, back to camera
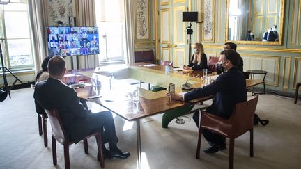
M 52 126 L 52 158 L 53 163 L 56 165 L 56 140 L 61 143 L 64 147 L 64 158 L 65 158 L 65 168 L 70 168 L 70 159 L 69 159 L 69 145 L 73 144 L 72 141 L 68 140 L 68 137 L 65 134 L 63 129 L 63 124 L 61 118 L 59 117 L 59 111 L 56 109 L 45 109 L 50 124 Z M 87 138 L 95 136 L 98 143 L 98 154 L 100 154 L 100 167 L 105 167 L 105 161 L 102 154 L 102 134 L 100 131 L 95 131 L 92 134 L 84 138 L 84 151 L 88 154 L 88 140 Z

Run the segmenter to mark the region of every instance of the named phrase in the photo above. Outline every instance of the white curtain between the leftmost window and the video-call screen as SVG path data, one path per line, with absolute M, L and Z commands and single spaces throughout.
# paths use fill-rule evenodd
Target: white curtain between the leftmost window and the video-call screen
M 33 38 L 33 58 L 35 70 L 41 70 L 41 64 L 47 56 L 45 26 L 47 23 L 45 0 L 29 0 L 29 18 Z

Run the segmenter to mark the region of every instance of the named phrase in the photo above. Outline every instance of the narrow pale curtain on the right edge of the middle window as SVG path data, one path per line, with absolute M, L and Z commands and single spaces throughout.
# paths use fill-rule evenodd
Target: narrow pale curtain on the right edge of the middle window
M 125 0 L 125 62 L 127 64 L 134 63 L 134 2 L 132 0 Z

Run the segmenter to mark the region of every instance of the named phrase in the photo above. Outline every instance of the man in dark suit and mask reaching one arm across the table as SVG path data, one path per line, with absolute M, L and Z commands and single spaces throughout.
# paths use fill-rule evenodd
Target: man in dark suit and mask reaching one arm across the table
M 167 93 L 171 99 L 188 101 L 199 97 L 214 95 L 213 104 L 206 109 L 206 112 L 213 113 L 222 118 L 230 118 L 234 107 L 239 102 L 247 101 L 246 80 L 242 72 L 238 70 L 240 61 L 239 54 L 234 50 L 224 50 L 220 53 L 224 73 L 217 79 L 203 88 L 196 88 L 185 95 Z M 199 113 L 194 113 L 194 122 L 199 126 Z M 203 129 L 203 136 L 211 147 L 204 150 L 206 153 L 215 153 L 226 149 L 226 142 L 223 136 Z

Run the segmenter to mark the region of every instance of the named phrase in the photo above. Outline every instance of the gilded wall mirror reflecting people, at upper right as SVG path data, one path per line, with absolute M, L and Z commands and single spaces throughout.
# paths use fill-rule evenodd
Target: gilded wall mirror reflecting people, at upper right
M 227 0 L 226 42 L 282 45 L 284 0 Z

